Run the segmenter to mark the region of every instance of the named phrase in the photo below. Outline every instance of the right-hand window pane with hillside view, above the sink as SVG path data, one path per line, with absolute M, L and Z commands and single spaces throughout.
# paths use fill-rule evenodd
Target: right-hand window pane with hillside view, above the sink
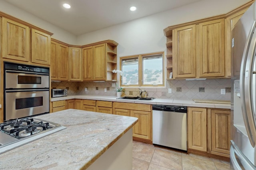
M 143 57 L 143 84 L 163 84 L 163 55 Z

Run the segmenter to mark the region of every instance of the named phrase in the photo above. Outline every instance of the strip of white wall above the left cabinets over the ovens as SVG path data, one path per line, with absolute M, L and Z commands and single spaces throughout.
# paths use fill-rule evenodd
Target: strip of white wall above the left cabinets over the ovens
M 54 33 L 52 35 L 52 38 L 54 39 L 58 39 L 59 41 L 71 45 L 76 45 L 77 40 L 75 35 L 65 31 L 64 29 L 61 29 L 60 27 L 56 27 L 51 23 L 44 21 L 28 12 L 25 12 L 24 10 L 17 8 L 12 4 L 5 2 L 4 0 L 0 0 L 0 12 L 4 12 L 5 14 L 18 18 L 22 21 L 26 21 L 27 23 L 45 29 L 46 31 L 49 31 L 51 33 Z

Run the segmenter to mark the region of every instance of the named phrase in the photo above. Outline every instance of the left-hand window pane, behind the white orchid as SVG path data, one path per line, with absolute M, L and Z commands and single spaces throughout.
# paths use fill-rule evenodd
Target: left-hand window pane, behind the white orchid
M 122 84 L 138 85 L 138 58 L 122 59 Z

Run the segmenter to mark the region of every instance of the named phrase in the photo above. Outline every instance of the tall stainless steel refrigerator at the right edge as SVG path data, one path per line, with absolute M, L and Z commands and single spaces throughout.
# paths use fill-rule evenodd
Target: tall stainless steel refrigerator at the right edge
M 256 170 L 256 4 L 232 30 L 230 169 Z

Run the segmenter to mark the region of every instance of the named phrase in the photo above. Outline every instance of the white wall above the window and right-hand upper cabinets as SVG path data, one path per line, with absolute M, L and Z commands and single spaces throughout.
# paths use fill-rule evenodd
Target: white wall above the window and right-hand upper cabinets
M 113 39 L 118 42 L 118 56 L 166 51 L 163 29 L 180 23 L 226 14 L 250 0 L 201 0 L 152 16 L 129 21 L 78 36 L 84 45 Z

